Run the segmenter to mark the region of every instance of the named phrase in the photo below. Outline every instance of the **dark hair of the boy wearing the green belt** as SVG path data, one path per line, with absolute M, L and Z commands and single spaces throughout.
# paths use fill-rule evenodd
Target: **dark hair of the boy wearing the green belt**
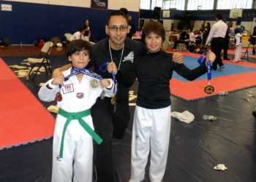
M 82 50 L 86 50 L 91 58 L 90 51 L 91 51 L 91 44 L 89 41 L 83 41 L 83 40 L 74 40 L 70 41 L 69 45 L 67 46 L 67 57 L 71 56 L 75 52 L 80 52 Z

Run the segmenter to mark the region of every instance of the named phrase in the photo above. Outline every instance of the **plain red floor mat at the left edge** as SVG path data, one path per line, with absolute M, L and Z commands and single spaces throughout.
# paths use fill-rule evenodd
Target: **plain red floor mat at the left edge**
M 55 119 L 0 58 L 0 149 L 53 136 Z

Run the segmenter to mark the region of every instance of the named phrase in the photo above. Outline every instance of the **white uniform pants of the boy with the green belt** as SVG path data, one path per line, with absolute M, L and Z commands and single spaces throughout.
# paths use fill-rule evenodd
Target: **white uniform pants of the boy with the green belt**
M 63 158 L 57 159 L 61 146 L 61 138 L 56 132 L 53 136 L 53 171 L 52 182 L 92 181 L 92 138 L 80 138 L 78 141 L 64 139 Z M 74 167 L 73 167 L 74 161 Z

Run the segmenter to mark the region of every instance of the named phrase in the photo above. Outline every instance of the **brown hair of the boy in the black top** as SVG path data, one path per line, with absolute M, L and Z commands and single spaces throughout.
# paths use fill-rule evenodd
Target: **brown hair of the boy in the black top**
M 145 42 L 146 36 L 150 33 L 155 33 L 162 37 L 162 42 L 165 41 L 165 28 L 158 21 L 149 22 L 143 26 L 141 39 Z

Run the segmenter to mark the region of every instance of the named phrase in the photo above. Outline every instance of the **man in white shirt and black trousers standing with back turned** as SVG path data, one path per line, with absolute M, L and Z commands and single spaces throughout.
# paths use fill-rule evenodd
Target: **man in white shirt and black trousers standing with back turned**
M 211 44 L 211 51 L 216 55 L 212 68 L 217 70 L 217 64 L 219 65 L 219 69 L 225 68 L 224 64 L 222 63 L 221 52 L 225 43 L 227 24 L 222 21 L 221 13 L 218 12 L 215 17 L 217 23 L 214 23 L 214 25 L 211 27 L 211 31 L 206 40 L 206 46 L 209 47 Z

